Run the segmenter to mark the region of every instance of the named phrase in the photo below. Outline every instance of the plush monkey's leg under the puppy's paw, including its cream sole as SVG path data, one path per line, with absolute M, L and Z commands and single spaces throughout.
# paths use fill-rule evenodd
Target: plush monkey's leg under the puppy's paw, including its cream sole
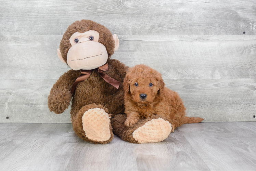
M 125 126 L 126 115 L 112 118 L 113 132 L 130 143 L 154 143 L 165 140 L 174 128 L 171 123 L 158 115 L 139 120 L 131 127 Z

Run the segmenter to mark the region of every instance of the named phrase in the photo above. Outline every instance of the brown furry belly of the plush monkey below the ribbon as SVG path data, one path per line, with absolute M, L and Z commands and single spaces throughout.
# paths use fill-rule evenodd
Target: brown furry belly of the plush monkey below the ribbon
M 113 78 L 111 74 L 109 76 Z M 116 89 L 93 71 L 88 79 L 76 86 L 72 99 L 71 118 L 76 116 L 83 106 L 92 103 L 105 106 L 112 117 L 123 114 L 125 110 L 123 86 Z

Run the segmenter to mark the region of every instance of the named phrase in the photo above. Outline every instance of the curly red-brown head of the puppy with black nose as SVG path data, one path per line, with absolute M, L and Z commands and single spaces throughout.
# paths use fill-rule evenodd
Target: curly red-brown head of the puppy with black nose
M 137 103 L 152 103 L 163 93 L 165 83 L 162 75 L 146 65 L 136 65 L 129 69 L 124 80 L 126 98 Z

